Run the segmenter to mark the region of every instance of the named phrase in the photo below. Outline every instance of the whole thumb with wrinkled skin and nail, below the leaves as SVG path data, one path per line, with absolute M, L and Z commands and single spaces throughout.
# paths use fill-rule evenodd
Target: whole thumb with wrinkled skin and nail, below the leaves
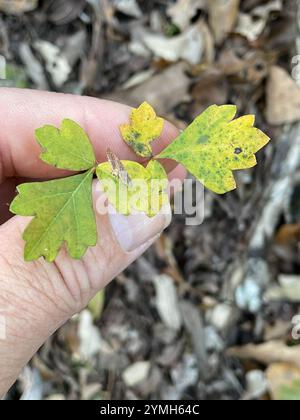
M 95 209 L 101 199 L 96 190 L 95 185 Z M 28 218 L 15 216 L 0 227 L 0 327 L 1 320 L 6 323 L 4 341 L 0 334 L 2 370 L 5 360 L 0 398 L 46 339 L 146 251 L 171 221 L 169 207 L 151 219 L 95 214 L 98 243 L 81 260 L 70 258 L 63 247 L 54 263 L 25 262 L 22 232 Z

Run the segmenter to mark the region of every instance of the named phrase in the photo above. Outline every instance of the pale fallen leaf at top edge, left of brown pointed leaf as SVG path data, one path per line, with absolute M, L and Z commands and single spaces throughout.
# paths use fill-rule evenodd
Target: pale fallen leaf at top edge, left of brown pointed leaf
M 206 9 L 206 0 L 177 0 L 167 8 L 167 15 L 182 31 L 187 29 L 198 10 Z

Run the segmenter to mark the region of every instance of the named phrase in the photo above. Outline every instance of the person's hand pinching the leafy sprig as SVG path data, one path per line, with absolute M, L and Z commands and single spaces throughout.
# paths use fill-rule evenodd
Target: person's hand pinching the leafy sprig
M 53 264 L 23 259 L 22 232 L 28 218 L 12 217 L 8 203 L 16 185 L 26 180 L 67 176 L 39 159 L 36 128 L 60 126 L 63 118 L 78 122 L 88 133 L 97 160 L 106 160 L 111 148 L 121 159 L 137 159 L 122 141 L 119 125 L 130 108 L 94 98 L 29 90 L 0 89 L 0 395 L 16 380 L 22 367 L 44 341 L 74 313 L 86 306 L 98 290 L 138 258 L 170 223 L 171 215 L 153 219 L 143 215 L 99 215 L 99 240 L 80 261 L 62 250 Z M 166 123 L 154 144 L 166 147 L 178 130 Z M 169 167 L 170 177 L 184 171 Z M 94 205 L 99 196 L 94 189 Z M 164 212 L 165 213 L 165 212 Z M 1 335 L 2 331 L 2 335 Z M 4 334 L 5 333 L 5 334 Z

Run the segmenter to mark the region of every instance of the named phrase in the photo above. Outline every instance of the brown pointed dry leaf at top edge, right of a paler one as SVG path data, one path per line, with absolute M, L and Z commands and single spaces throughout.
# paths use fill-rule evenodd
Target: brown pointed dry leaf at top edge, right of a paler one
M 235 27 L 240 0 L 210 0 L 208 3 L 209 22 L 217 44 L 221 44 L 226 35 Z

